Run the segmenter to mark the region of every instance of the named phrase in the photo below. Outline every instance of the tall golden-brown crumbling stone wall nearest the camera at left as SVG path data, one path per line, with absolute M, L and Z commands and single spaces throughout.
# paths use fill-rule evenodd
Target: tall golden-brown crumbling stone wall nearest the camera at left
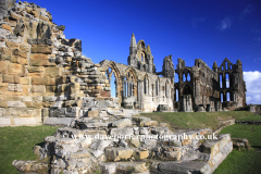
M 61 116 L 78 116 L 74 107 L 95 89 L 85 87 L 90 79 L 84 75 L 96 66 L 82 55 L 80 40 L 65 39 L 64 28 L 34 3 L 15 3 L 3 16 L 0 126 L 42 124 L 50 113 L 59 113 L 50 108 L 66 108 Z

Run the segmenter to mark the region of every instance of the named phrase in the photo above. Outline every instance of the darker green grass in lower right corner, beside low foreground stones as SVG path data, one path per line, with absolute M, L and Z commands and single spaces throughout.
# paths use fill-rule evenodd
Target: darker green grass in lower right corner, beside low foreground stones
M 220 134 L 231 134 L 232 138 L 247 138 L 252 150 L 233 150 L 214 174 L 258 174 L 261 172 L 261 126 L 235 124 Z

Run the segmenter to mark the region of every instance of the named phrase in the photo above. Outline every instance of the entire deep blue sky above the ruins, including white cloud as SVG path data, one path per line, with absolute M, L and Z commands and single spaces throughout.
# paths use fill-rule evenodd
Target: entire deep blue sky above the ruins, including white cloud
M 95 63 L 127 64 L 132 34 L 150 45 L 157 72 L 172 54 L 187 66 L 202 59 L 211 69 L 225 58 L 243 62 L 247 103 L 261 104 L 260 0 L 34 0 L 65 25 L 66 38 L 82 39 Z

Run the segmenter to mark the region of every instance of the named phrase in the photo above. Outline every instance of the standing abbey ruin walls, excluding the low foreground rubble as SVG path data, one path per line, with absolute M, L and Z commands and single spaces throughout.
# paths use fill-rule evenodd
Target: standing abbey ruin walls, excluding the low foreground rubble
M 246 104 L 240 60 L 233 64 L 225 59 L 211 70 L 202 60 L 188 67 L 178 59 L 174 70 L 169 55 L 162 72 L 156 72 L 150 46 L 136 42 L 133 35 L 128 65 L 94 63 L 82 55 L 82 41 L 66 39 L 65 26 L 54 24 L 45 8 L 4 2 L 0 8 L 0 126 L 104 115 L 108 107 L 190 112 Z

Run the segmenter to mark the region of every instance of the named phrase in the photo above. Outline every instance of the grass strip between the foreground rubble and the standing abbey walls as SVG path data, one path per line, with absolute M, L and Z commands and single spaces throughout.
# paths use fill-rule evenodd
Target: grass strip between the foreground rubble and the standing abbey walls
M 217 129 L 222 125 L 220 120 L 240 119 L 253 116 L 249 111 L 227 112 L 153 112 L 141 113 L 159 123 L 167 123 L 171 129 L 176 128 L 204 128 Z

